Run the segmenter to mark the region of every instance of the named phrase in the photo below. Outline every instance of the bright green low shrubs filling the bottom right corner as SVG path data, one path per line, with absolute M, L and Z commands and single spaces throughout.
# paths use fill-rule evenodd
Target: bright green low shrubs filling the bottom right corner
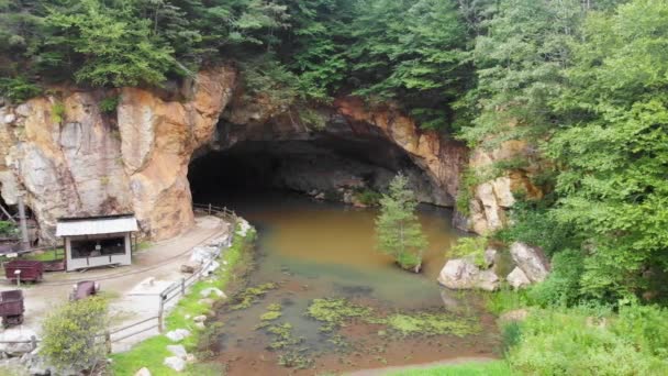
M 659 375 L 668 369 L 666 322 L 655 307 L 630 306 L 619 317 L 604 307 L 535 310 L 509 361 L 528 375 Z

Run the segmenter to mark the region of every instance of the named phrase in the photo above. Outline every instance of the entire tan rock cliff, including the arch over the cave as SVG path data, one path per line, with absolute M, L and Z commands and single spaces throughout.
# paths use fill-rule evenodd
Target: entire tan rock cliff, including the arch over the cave
M 54 241 L 57 218 L 122 212 L 134 212 L 142 232 L 159 240 L 193 223 L 187 175 L 193 154 L 244 140 L 311 141 L 323 133 L 341 142 L 382 139 L 428 177 L 420 188 L 424 201 L 442 206 L 454 204 L 467 165 L 485 167 L 526 150 L 509 142 L 469 153 L 438 132 L 420 130 L 392 106 L 369 107 L 350 97 L 315 109 L 326 126 L 314 130 L 285 106 L 234 96 L 236 81 L 235 69 L 220 67 L 170 90 L 56 88 L 0 107 L 0 193 L 9 204 L 24 195 L 46 241 Z M 100 102 L 113 97 L 119 104 L 105 113 Z M 477 186 L 468 229 L 501 226 L 513 190 L 539 195 L 526 175 L 519 170 Z

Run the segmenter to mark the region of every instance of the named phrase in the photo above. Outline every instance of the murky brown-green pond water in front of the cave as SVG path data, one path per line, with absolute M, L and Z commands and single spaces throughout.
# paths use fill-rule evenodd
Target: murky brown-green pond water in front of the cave
M 215 362 L 225 364 L 229 375 L 337 374 L 493 355 L 496 325 L 480 299 L 472 292 L 447 291 L 436 283 L 448 248 L 461 235 L 450 228 L 450 211 L 420 208 L 430 246 L 423 273 L 413 274 L 375 250 L 375 209 L 290 193 L 226 199 L 225 203 L 258 230 L 247 286 L 275 284 L 265 294 L 252 296 L 253 303 L 243 308 L 232 307 L 240 303 L 238 296 L 219 308 L 216 320 L 223 325 L 212 349 L 218 353 Z M 323 298 L 370 309 L 375 320 L 350 318 L 323 331 L 323 322 L 307 314 L 314 299 Z M 272 310 L 280 312 L 277 319 L 260 319 Z M 386 322 L 396 314 L 420 312 L 452 314 L 467 333 L 404 332 Z M 271 328 L 283 330 L 272 332 Z

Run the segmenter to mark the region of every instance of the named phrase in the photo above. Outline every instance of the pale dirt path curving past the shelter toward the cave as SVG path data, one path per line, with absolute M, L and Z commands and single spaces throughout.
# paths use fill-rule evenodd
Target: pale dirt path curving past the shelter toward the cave
M 227 231 L 229 226 L 222 220 L 215 217 L 199 217 L 196 219 L 196 225 L 188 232 L 152 244 L 147 250 L 133 255 L 131 266 L 84 273 L 46 274 L 42 284 L 21 286 L 25 296 L 25 320 L 22 327 L 38 333 L 46 313 L 52 307 L 68 299 L 71 286 L 78 280 L 100 281 L 101 290 L 112 298 L 113 327 L 153 317 L 158 309 L 157 294 L 182 277 L 179 267 L 188 261 L 190 251 L 207 241 L 225 235 Z M 152 286 L 142 284 L 148 278 L 155 280 Z M 15 288 L 3 281 L 0 290 Z M 152 334 L 147 332 L 143 336 Z M 134 340 L 132 342 L 136 342 Z

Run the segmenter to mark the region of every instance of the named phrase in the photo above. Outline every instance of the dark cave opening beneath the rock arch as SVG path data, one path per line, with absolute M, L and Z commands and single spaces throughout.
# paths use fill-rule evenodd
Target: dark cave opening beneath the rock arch
M 198 203 L 226 204 L 277 191 L 350 203 L 363 192 L 385 191 L 399 172 L 409 177 L 421 202 L 447 201 L 403 150 L 380 136 L 241 141 L 200 153 L 188 178 Z

